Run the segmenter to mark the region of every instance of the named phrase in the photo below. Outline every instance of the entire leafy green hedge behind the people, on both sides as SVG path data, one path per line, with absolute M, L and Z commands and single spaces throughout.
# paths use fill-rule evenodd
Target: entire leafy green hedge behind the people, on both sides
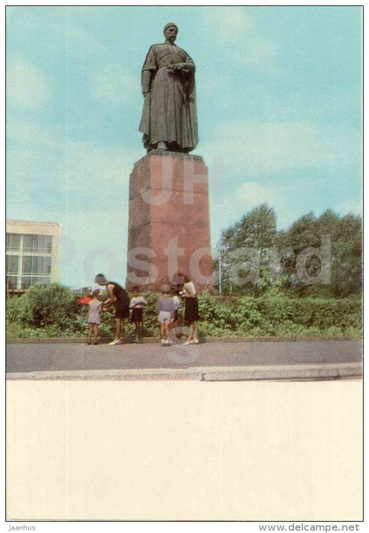
M 143 336 L 158 337 L 156 301 L 158 293 L 143 293 Z M 184 303 L 179 310 L 183 318 Z M 81 306 L 72 292 L 53 283 L 34 286 L 26 294 L 8 301 L 8 337 L 80 337 L 87 335 L 87 306 Z M 254 297 L 199 295 L 198 323 L 201 337 L 361 337 L 361 300 L 286 298 L 278 292 Z M 103 312 L 102 337 L 114 336 L 113 312 Z M 125 321 L 125 337 L 134 336 L 134 324 Z

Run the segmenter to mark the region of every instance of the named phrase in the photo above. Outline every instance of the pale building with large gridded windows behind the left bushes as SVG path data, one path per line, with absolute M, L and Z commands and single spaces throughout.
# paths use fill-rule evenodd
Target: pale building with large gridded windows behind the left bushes
M 59 280 L 60 225 L 6 221 L 6 282 L 10 292 Z

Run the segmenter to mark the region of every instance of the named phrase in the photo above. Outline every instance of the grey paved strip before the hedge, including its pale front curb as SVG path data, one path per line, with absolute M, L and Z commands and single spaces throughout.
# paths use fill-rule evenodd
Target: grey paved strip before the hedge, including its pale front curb
M 323 380 L 362 376 L 361 342 L 9 343 L 8 380 Z

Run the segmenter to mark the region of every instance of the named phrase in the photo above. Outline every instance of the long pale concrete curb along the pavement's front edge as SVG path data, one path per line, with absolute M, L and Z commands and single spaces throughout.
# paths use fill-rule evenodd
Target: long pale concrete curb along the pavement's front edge
M 361 378 L 361 363 L 7 373 L 7 380 L 309 381 Z

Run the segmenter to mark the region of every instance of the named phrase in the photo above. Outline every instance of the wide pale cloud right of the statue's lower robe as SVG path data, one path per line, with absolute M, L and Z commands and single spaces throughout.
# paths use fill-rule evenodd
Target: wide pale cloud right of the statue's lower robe
M 357 135 L 309 122 L 226 122 L 203 153 L 224 154 L 227 171 L 246 176 L 291 169 L 341 167 L 357 161 Z

